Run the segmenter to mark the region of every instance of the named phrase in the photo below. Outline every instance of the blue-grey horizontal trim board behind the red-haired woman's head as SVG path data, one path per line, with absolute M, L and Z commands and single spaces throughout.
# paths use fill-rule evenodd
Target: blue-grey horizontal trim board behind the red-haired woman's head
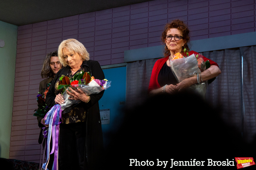
M 256 32 L 228 35 L 223 37 L 207 38 L 190 42 L 190 50 L 198 53 L 204 51 L 222 50 L 256 45 Z M 163 57 L 164 45 L 139 48 L 125 51 L 125 62 L 134 62 L 144 59 L 156 59 Z

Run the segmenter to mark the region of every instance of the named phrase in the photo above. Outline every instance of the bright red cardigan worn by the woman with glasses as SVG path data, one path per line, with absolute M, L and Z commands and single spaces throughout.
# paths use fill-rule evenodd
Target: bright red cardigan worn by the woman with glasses
M 195 51 L 189 51 L 189 55 L 192 55 L 192 54 L 198 54 L 198 53 L 195 52 Z M 158 78 L 158 74 L 159 74 L 161 68 L 163 67 L 164 63 L 166 63 L 167 59 L 169 59 L 169 56 L 164 57 L 162 59 L 158 59 L 157 62 L 154 64 L 154 67 L 153 67 L 153 70 L 152 70 L 152 73 L 151 73 L 149 86 L 148 86 L 148 92 L 150 92 L 151 90 L 160 88 L 160 85 L 157 81 L 157 78 Z M 210 65 L 218 66 L 218 64 L 216 62 L 214 62 L 214 61 L 212 61 L 212 60 L 210 60 L 206 57 L 203 57 L 203 59 L 204 59 L 204 61 L 209 60 Z

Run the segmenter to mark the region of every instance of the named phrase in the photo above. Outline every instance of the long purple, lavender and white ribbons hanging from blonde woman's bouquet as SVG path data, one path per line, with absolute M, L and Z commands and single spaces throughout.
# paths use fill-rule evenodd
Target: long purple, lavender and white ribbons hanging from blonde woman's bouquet
M 52 170 L 58 170 L 58 137 L 59 137 L 59 125 L 61 123 L 61 105 L 54 105 L 44 116 L 45 124 L 49 125 L 48 137 L 47 137 L 47 159 L 42 168 L 48 170 L 50 154 L 54 153 L 54 161 Z M 52 137 L 52 149 L 50 152 L 50 141 Z

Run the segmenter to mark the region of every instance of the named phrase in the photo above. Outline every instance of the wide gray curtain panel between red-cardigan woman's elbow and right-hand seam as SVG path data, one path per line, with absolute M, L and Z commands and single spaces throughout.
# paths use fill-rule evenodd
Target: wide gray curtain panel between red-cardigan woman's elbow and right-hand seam
M 215 108 L 221 108 L 223 120 L 242 132 L 242 77 L 239 48 L 208 51 L 203 55 L 217 62 L 221 69 L 221 74 L 207 87 L 207 102 Z

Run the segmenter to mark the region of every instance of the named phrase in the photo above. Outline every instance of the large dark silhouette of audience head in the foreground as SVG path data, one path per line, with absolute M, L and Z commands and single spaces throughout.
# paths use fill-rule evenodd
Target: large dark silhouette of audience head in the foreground
M 229 159 L 235 167 L 225 168 L 235 169 L 235 157 L 256 155 L 255 142 L 244 142 L 241 133 L 221 119 L 221 110 L 187 91 L 153 96 L 143 105 L 125 110 L 121 127 L 109 135 L 112 140 L 105 149 L 104 164 L 112 169 L 163 168 L 156 166 L 157 159 L 169 161 L 167 168 L 171 159 L 206 161 L 204 167 L 196 167 L 205 169 L 221 168 L 207 167 L 207 159 Z M 130 166 L 130 159 L 154 161 L 154 166 Z

